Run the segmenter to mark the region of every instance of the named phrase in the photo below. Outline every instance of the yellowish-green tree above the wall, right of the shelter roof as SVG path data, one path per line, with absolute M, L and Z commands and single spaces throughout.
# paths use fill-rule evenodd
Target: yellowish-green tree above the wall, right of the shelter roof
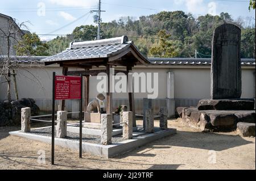
M 150 49 L 150 54 L 154 57 L 176 57 L 177 52 L 174 43 L 170 40 L 171 35 L 165 30 L 158 33 L 159 43 Z

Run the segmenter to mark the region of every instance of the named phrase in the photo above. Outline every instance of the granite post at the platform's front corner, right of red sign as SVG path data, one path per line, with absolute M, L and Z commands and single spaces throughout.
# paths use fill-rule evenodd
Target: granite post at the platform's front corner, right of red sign
M 101 115 L 101 144 L 112 144 L 112 114 Z

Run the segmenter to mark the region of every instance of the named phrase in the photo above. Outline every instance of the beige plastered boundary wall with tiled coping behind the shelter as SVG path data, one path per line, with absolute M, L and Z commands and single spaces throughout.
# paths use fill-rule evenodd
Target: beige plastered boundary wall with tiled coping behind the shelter
M 17 58 L 17 57 L 15 57 Z M 62 68 L 51 65 L 31 67 L 31 61 L 40 61 L 44 57 L 18 57 L 30 70 L 18 70 L 17 84 L 20 98 L 33 98 L 41 110 L 51 110 L 52 96 L 52 72 L 57 75 L 62 74 Z M 169 109 L 169 116 L 174 116 L 176 107 L 196 106 L 200 99 L 210 98 L 210 59 L 208 58 L 148 58 L 151 64 L 147 67 L 135 66 L 133 69 L 137 73 L 158 73 L 158 98 L 152 104 L 155 114 L 160 106 Z M 77 70 L 77 69 L 73 69 Z M 35 78 L 35 77 L 36 78 Z M 2 78 L 3 80 L 3 78 Z M 1 78 L 0 78 L 0 82 Z M 96 98 L 97 83 L 96 77 L 90 77 L 90 100 Z M 0 87 L 0 99 L 6 99 L 6 85 Z M 136 113 L 141 115 L 143 108 L 143 98 L 147 98 L 147 93 L 135 93 Z M 14 98 L 14 92 L 13 92 Z M 113 109 L 120 104 L 128 104 L 126 93 L 113 94 Z M 242 59 L 242 98 L 255 98 L 255 59 Z M 56 109 L 57 109 L 56 103 Z M 79 101 L 68 100 L 68 111 L 78 111 Z

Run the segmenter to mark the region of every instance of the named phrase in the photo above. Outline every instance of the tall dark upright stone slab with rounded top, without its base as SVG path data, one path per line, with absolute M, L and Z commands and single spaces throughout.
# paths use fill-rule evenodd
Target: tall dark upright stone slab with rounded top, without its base
M 239 99 L 242 94 L 241 29 L 225 23 L 213 32 L 211 99 Z

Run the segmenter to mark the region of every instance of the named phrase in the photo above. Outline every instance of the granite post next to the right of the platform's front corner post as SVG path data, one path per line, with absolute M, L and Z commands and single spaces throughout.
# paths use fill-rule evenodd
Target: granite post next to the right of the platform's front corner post
M 133 138 L 133 112 L 123 112 L 123 138 L 132 139 Z

